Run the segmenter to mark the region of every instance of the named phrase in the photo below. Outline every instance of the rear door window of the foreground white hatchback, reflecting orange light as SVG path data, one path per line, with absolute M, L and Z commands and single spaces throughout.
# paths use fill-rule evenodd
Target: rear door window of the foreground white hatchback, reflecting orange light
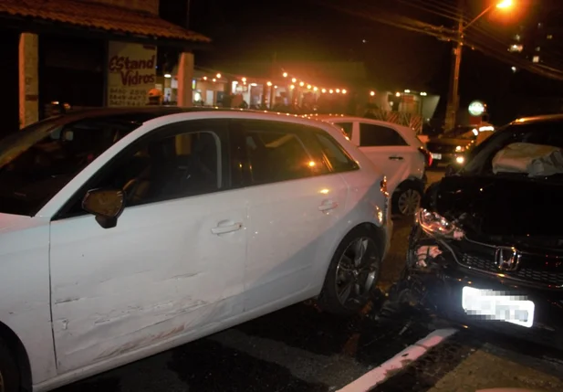
M 267 121 L 237 122 L 245 137 L 252 184 L 296 180 L 325 172 L 298 136 L 297 124 Z

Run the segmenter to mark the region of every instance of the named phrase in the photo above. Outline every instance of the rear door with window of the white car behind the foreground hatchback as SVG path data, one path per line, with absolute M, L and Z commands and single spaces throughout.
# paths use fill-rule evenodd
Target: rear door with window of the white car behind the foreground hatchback
M 401 133 L 388 126 L 360 122 L 355 141 L 360 151 L 387 176 L 391 192 L 412 174 L 415 160 L 420 158 L 417 156 L 420 153 L 404 140 Z

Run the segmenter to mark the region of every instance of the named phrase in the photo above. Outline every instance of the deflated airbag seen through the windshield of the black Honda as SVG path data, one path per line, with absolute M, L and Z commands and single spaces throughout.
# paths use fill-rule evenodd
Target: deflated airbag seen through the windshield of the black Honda
M 493 173 L 525 173 L 530 177 L 563 174 L 563 151 L 551 145 L 508 144 L 495 154 Z

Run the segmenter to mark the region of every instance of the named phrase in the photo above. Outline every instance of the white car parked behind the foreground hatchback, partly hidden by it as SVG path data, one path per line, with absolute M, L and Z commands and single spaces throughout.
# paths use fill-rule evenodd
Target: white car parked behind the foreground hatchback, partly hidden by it
M 432 164 L 432 157 L 411 128 L 343 115 L 311 118 L 338 125 L 381 168 L 387 175 L 394 212 L 405 216 L 416 212 L 426 183 L 425 168 Z

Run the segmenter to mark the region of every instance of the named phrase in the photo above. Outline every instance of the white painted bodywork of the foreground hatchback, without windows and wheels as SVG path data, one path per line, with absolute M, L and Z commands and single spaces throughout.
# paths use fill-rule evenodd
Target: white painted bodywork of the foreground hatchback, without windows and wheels
M 362 169 L 296 181 L 292 189 L 266 185 L 130 207 L 116 228 L 100 228 L 89 215 L 51 221 L 130 143 L 163 125 L 205 118 L 317 125 Z M 350 228 L 381 225 L 381 179 L 328 123 L 245 111 L 146 122 L 75 176 L 36 217 L 0 214 L 0 322 L 25 345 L 34 390 L 43 391 L 273 312 L 318 294 Z M 323 189 L 327 193 L 318 193 Z M 326 199 L 338 208 L 319 211 Z M 241 223 L 241 229 L 213 234 L 220 222 Z M 391 220 L 382 225 L 391 238 Z

